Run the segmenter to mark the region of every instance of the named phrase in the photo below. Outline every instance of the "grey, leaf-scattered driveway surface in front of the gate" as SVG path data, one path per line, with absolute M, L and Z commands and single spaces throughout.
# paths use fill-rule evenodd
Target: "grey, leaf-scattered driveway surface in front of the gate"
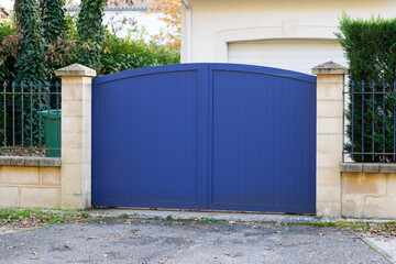
M 107 219 L 0 235 L 0 263 L 389 263 L 339 228 Z

